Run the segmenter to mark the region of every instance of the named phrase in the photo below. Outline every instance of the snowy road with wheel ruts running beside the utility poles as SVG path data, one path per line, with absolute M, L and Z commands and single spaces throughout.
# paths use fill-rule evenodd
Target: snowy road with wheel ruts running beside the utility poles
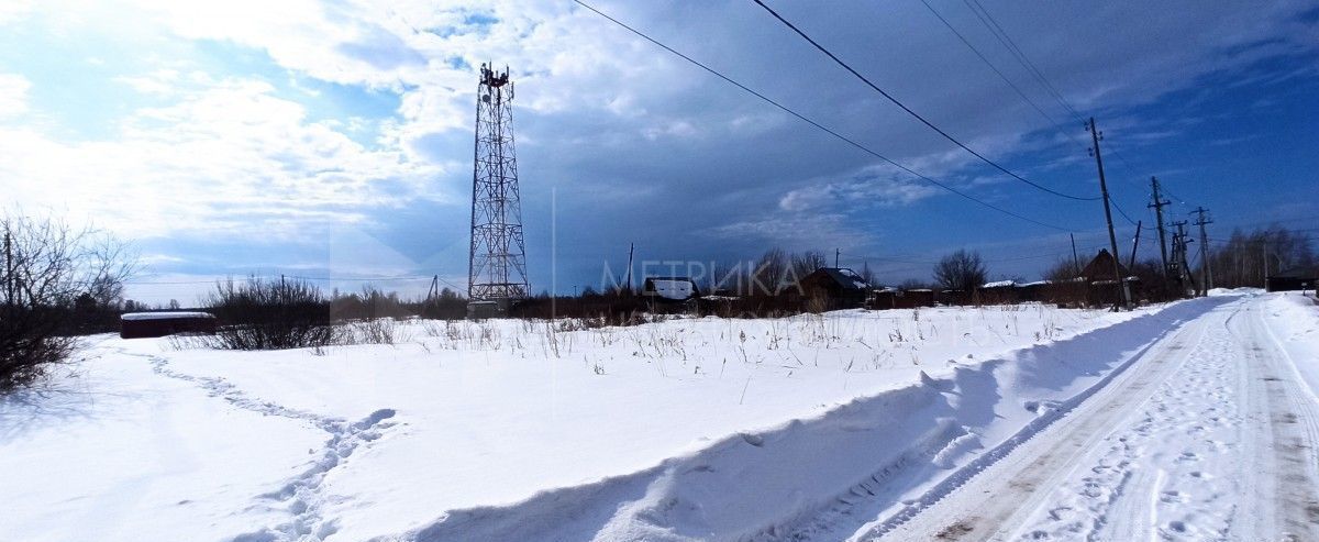
M 853 538 L 1319 539 L 1319 402 L 1268 299 L 1187 322 L 933 506 Z

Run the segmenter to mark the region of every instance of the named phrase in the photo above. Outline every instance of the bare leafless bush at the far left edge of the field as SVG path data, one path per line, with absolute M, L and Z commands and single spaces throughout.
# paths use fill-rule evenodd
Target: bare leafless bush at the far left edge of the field
M 30 382 L 74 349 L 75 307 L 117 309 L 137 269 L 128 245 L 54 218 L 0 218 L 0 389 Z

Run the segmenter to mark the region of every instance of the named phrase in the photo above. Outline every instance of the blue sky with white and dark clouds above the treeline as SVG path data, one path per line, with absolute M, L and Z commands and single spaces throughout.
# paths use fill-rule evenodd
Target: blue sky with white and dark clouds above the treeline
M 1174 218 L 1208 207 L 1215 236 L 1319 228 L 1319 4 L 925 1 L 768 4 L 1031 182 L 1099 193 L 1064 102 L 1099 120 L 1132 220 L 1153 220 L 1158 175 Z M 517 84 L 536 291 L 551 277 L 559 291 L 598 285 L 605 262 L 621 273 L 629 243 L 638 261 L 836 249 L 889 282 L 929 277 L 963 247 L 995 277 L 1034 278 L 1070 252 L 1068 232 L 1082 252 L 1107 244 L 1099 202 L 977 161 L 754 3 L 588 3 L 1055 228 L 902 173 L 567 0 L 5 0 L 0 182 L 11 207 L 132 240 L 140 299 L 187 305 L 215 277 L 248 273 L 464 286 L 476 69 L 492 61 Z M 1125 252 L 1134 226 L 1115 220 Z

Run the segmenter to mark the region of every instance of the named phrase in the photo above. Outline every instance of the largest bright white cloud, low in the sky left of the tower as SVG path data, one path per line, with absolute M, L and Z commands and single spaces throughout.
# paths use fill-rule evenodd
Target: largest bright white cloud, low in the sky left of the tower
M 268 83 L 226 79 L 137 111 L 113 141 L 0 128 L 0 175 L 17 200 L 66 208 L 131 236 L 226 232 L 315 237 L 417 198 L 445 165 L 368 149 Z

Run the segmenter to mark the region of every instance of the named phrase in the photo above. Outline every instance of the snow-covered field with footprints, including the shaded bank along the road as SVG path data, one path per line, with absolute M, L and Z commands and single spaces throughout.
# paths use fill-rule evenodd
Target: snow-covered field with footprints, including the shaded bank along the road
M 44 386 L 0 402 L 0 533 L 884 534 L 1099 397 L 1183 323 L 1242 299 L 578 331 L 417 322 L 396 346 L 280 352 L 98 336 Z M 1310 307 L 1270 302 L 1298 311 L 1277 316 L 1279 334 L 1319 327 Z M 1306 371 L 1314 385 L 1319 369 Z

